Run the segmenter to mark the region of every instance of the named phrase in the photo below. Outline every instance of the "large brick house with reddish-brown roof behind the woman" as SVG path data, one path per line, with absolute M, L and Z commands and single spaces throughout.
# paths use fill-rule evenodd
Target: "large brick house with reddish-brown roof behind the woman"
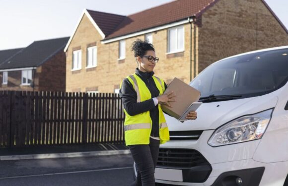
M 288 45 L 288 30 L 264 0 L 175 0 L 129 16 L 84 10 L 64 50 L 66 91 L 117 92 L 137 67 L 137 38 L 154 45 L 157 76 L 188 83 L 219 59 Z

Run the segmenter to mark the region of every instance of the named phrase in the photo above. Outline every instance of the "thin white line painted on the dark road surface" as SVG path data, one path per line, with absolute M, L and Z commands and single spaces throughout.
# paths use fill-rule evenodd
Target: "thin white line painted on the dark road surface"
M 27 178 L 27 177 L 38 177 L 38 176 L 52 176 L 52 175 L 65 175 L 65 174 L 75 174 L 75 173 L 89 173 L 97 171 L 111 171 L 111 170 L 121 170 L 121 169 L 132 169 L 132 167 L 120 167 L 120 168 L 111 168 L 111 169 L 95 169 L 87 171 L 73 171 L 73 172 L 63 172 L 63 173 L 50 173 L 50 174 L 41 174 L 41 175 L 26 175 L 26 176 L 11 176 L 11 177 L 2 177 L 3 179 L 13 179 L 13 178 Z

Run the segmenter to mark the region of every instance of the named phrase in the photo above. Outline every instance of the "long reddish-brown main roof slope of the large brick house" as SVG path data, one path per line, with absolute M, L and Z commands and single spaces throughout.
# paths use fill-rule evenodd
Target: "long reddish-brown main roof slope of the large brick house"
M 199 16 L 218 0 L 175 0 L 127 16 L 104 40 Z

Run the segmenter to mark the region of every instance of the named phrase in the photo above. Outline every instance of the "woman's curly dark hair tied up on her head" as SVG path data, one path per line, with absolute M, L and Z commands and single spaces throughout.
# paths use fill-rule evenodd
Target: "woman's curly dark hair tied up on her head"
M 140 39 L 137 39 L 133 42 L 131 51 L 134 51 L 134 57 L 136 58 L 138 56 L 144 56 L 147 51 L 155 52 L 155 49 L 148 40 L 142 41 Z

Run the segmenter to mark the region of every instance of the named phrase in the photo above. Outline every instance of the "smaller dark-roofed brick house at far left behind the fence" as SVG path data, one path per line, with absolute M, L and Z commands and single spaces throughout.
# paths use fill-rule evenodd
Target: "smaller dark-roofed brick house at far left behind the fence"
M 68 40 L 35 41 L 23 49 L 0 51 L 0 90 L 65 91 L 63 49 Z

